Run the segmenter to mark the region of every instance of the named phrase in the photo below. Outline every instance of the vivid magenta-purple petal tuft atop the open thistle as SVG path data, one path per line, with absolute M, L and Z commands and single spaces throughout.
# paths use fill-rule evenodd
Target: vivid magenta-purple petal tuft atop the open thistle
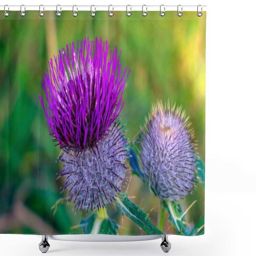
M 47 104 L 39 96 L 53 141 L 61 148 L 97 148 L 123 104 L 127 67 L 122 72 L 117 47 L 85 38 L 51 59 L 42 83 Z M 78 151 L 79 152 L 79 151 Z

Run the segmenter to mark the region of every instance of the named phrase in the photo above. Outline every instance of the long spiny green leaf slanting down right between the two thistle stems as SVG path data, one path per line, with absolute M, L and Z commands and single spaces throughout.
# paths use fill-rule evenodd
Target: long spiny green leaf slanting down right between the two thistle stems
M 132 203 L 128 198 L 127 193 L 119 193 L 116 197 L 116 204 L 121 208 L 123 214 L 142 228 L 148 235 L 163 234 L 163 232 L 156 228 L 156 226 L 154 226 L 154 224 L 148 219 L 148 214 L 143 212 L 138 205 Z

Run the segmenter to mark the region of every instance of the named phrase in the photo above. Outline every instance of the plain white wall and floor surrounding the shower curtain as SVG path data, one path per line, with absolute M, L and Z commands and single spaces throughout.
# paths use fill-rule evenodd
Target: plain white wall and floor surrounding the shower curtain
M 5 0 L 8 5 L 207 5 L 205 234 L 170 236 L 169 255 L 255 255 L 255 1 Z M 195 13 L 196 15 L 196 13 Z M 0 254 L 41 255 L 40 238 L 0 235 Z M 50 240 L 49 255 L 163 255 L 160 240 Z

